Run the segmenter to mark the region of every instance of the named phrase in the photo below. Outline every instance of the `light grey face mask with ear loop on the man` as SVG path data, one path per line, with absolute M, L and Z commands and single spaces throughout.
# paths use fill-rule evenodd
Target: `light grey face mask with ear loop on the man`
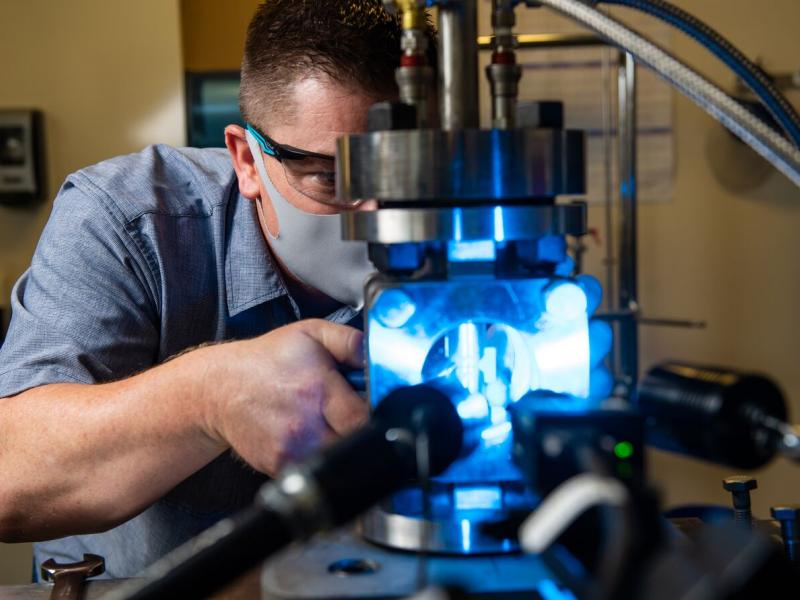
M 278 235 L 267 231 L 272 251 L 306 285 L 360 309 L 364 305 L 364 281 L 375 271 L 367 256 L 367 244 L 342 240 L 341 215 L 313 215 L 286 200 L 267 175 L 258 142 L 249 131 L 246 135 L 256 169 L 278 216 Z

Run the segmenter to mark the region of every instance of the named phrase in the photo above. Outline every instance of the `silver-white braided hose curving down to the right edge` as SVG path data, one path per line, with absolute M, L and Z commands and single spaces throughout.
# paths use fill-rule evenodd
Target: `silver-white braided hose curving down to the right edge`
M 724 91 L 651 41 L 580 0 L 539 0 L 630 52 L 800 186 L 800 150 Z

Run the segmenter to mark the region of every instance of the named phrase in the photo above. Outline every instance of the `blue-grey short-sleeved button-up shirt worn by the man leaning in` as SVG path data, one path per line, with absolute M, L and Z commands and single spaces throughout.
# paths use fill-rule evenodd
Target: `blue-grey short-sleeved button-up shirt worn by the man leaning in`
M 124 378 L 300 318 L 228 153 L 168 146 L 67 178 L 11 306 L 0 398 Z M 343 307 L 328 318 L 356 316 Z M 36 562 L 92 552 L 107 577 L 130 577 L 249 504 L 264 480 L 225 453 L 119 527 L 36 544 Z

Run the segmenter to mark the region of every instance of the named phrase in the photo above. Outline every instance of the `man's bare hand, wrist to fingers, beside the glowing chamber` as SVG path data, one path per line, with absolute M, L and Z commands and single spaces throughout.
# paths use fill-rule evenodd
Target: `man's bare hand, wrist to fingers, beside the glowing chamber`
M 367 403 L 337 371 L 362 368 L 362 333 L 307 320 L 261 337 L 201 350 L 208 431 L 253 468 L 274 475 L 368 417 Z

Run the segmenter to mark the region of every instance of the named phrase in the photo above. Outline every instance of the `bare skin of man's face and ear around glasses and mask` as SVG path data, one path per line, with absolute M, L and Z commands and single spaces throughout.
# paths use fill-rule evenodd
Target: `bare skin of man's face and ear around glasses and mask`
M 278 111 L 265 123 L 254 123 L 275 142 L 319 154 L 334 155 L 336 139 L 347 134 L 362 133 L 366 129 L 367 111 L 381 100 L 363 91 L 345 87 L 326 76 L 302 79 L 294 84 L 288 96 L 292 102 L 288 110 Z M 243 196 L 261 199 L 259 216 L 262 228 L 273 235 L 280 230 L 269 194 L 258 176 L 241 127 L 226 129 L 226 143 L 234 160 L 239 189 Z M 315 201 L 299 192 L 287 181 L 281 162 L 263 154 L 267 174 L 276 190 L 297 208 L 314 214 L 326 215 L 339 211 L 336 207 Z M 266 232 L 265 232 L 266 233 Z

